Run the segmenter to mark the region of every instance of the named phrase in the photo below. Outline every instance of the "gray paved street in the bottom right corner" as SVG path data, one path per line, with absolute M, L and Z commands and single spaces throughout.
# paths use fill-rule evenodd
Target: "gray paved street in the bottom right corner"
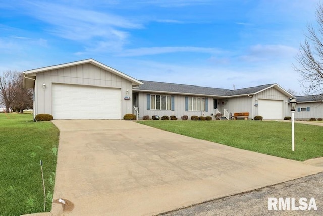
M 306 197 L 307 204 L 313 197 L 317 210 L 270 211 L 268 197 L 294 197 L 295 206 L 299 205 L 300 197 Z M 323 172 L 163 214 L 175 215 L 323 215 Z

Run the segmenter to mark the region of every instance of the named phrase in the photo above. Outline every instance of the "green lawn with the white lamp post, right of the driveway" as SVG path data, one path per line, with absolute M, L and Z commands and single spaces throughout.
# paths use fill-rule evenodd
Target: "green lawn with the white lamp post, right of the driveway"
M 277 121 L 138 121 L 165 131 L 224 145 L 304 161 L 323 157 L 323 127 L 295 123 L 292 151 L 291 123 Z

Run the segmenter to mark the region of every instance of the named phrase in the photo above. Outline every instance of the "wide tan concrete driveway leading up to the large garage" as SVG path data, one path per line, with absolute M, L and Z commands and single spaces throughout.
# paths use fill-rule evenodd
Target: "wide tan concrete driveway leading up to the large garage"
M 132 121 L 53 123 L 54 215 L 154 215 L 323 171 Z

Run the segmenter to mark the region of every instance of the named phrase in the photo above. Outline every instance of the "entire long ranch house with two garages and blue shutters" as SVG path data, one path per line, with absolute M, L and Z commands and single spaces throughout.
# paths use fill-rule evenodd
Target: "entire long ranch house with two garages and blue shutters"
M 34 88 L 34 117 L 54 119 L 122 119 L 175 115 L 181 118 L 221 112 L 249 112 L 249 118 L 290 116 L 290 93 L 278 84 L 238 90 L 136 80 L 93 59 L 27 70 L 26 88 Z M 136 113 L 137 114 L 137 113 Z

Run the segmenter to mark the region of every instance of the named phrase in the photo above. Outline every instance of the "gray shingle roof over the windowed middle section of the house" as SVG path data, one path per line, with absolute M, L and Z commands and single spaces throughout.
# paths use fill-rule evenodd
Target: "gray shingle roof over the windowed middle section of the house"
M 151 92 L 170 92 L 170 93 L 183 93 L 183 94 L 197 94 L 197 95 L 214 95 L 214 96 L 233 96 L 245 95 L 259 92 L 263 89 L 270 87 L 273 84 L 260 85 L 257 87 L 249 87 L 244 89 L 230 90 L 212 87 L 200 87 L 196 85 L 174 84 L 165 82 L 152 82 L 144 81 L 139 87 L 133 88 L 134 91 L 151 91 Z

